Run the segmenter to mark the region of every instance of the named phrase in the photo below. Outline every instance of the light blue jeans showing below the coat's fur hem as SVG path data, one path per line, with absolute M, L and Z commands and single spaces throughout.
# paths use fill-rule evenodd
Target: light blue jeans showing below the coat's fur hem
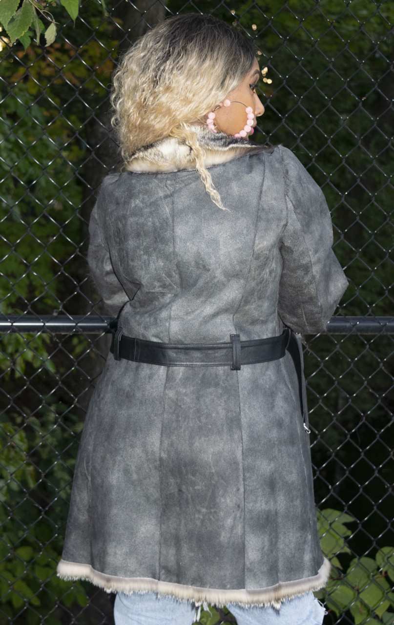
M 238 625 L 321 625 L 325 608 L 312 592 L 286 599 L 280 610 L 273 607 L 241 607 L 228 603 Z M 156 592 L 118 592 L 114 604 L 115 625 L 192 625 L 196 619 L 193 601 L 179 601 Z

